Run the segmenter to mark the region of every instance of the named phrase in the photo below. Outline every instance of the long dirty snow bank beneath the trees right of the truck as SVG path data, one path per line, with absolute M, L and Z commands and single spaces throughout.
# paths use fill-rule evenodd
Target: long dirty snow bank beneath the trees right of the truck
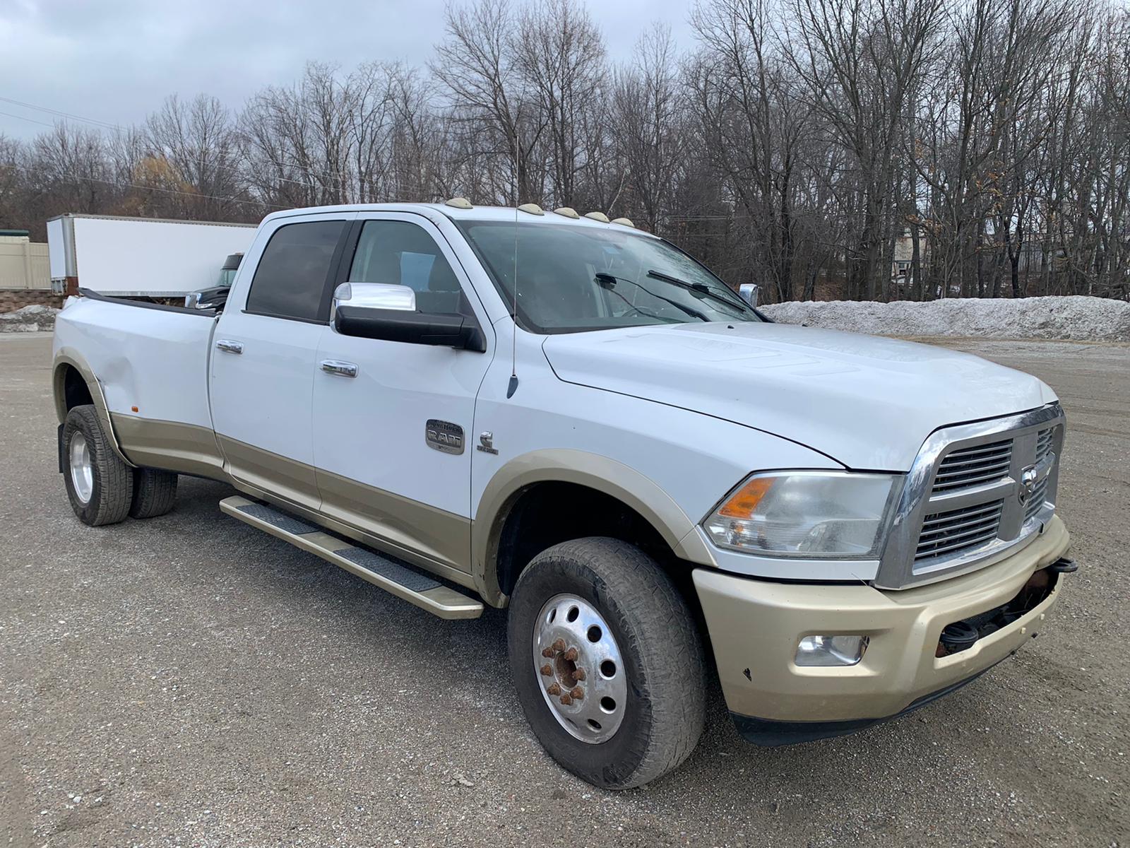
M 1106 297 L 951 297 L 928 303 L 794 301 L 760 309 L 781 323 L 872 336 L 1130 341 L 1130 303 Z

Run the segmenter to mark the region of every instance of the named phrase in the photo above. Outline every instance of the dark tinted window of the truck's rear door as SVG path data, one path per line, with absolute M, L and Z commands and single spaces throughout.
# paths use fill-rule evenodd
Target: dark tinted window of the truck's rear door
M 275 231 L 247 293 L 247 312 L 323 320 L 321 308 L 344 220 L 310 220 Z

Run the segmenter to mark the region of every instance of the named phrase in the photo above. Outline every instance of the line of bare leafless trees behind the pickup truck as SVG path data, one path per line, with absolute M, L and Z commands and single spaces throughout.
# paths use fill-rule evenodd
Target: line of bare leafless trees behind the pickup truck
M 1124 6 L 697 0 L 690 19 L 693 43 L 646 28 L 617 64 L 583 5 L 452 2 L 427 68 L 312 63 L 237 112 L 174 96 L 140 127 L 0 138 L 0 225 L 466 194 L 627 216 L 772 300 L 1128 296 Z

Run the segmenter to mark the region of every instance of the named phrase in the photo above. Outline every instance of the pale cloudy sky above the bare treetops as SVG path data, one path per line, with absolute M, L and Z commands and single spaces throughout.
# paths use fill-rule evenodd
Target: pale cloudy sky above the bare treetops
M 612 59 L 628 58 L 653 20 L 668 24 L 680 47 L 690 42 L 689 0 L 588 5 Z M 237 109 L 263 86 L 292 83 L 307 60 L 423 64 L 443 35 L 443 0 L 0 0 L 0 133 L 47 129 L 50 113 L 20 103 L 133 123 L 173 93 L 203 92 Z

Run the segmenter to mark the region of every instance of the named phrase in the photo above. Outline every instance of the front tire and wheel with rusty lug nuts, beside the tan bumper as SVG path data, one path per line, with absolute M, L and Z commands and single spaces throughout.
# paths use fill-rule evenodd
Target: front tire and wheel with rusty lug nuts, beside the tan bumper
M 507 642 L 530 727 L 582 780 L 641 786 L 698 743 L 698 632 L 671 581 L 634 545 L 592 537 L 538 554 L 511 596 Z

